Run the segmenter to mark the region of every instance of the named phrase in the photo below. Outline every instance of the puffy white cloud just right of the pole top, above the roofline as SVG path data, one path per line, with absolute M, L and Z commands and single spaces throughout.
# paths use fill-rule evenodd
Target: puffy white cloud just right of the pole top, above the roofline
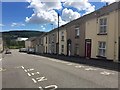
M 62 11 L 62 19 L 65 21 L 71 21 L 80 17 L 78 12 L 74 12 L 72 9 L 65 8 Z

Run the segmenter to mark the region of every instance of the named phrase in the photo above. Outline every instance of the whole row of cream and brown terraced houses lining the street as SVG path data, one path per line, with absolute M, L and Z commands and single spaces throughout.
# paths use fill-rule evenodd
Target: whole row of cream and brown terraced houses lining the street
M 38 54 L 62 54 L 118 62 L 120 2 L 104 6 L 59 27 L 59 30 L 55 28 L 27 41 L 31 42 L 29 47 L 35 48 Z

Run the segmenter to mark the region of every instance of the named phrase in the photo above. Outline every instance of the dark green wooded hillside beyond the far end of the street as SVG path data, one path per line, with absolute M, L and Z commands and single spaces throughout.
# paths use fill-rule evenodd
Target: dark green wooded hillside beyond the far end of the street
M 18 37 L 37 37 L 42 35 L 44 32 L 40 31 L 9 31 L 9 32 L 2 32 L 2 37 L 4 41 L 4 47 L 6 48 L 21 48 L 25 47 L 24 41 L 16 41 Z

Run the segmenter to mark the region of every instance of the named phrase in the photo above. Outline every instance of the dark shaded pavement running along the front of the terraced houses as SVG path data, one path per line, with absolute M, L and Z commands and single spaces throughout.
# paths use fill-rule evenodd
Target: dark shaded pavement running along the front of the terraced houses
M 108 60 L 85 59 L 85 58 L 81 58 L 81 57 L 51 55 L 51 54 L 37 54 L 37 55 L 54 58 L 54 59 L 58 59 L 58 60 L 86 64 L 86 65 L 104 68 L 104 69 L 108 69 L 108 70 L 120 71 L 119 70 L 120 63 L 108 61 Z

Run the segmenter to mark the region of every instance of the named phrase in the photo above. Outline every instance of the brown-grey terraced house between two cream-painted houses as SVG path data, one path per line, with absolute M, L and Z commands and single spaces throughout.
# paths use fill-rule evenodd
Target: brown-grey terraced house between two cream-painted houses
M 85 57 L 85 18 L 67 24 L 67 55 Z

